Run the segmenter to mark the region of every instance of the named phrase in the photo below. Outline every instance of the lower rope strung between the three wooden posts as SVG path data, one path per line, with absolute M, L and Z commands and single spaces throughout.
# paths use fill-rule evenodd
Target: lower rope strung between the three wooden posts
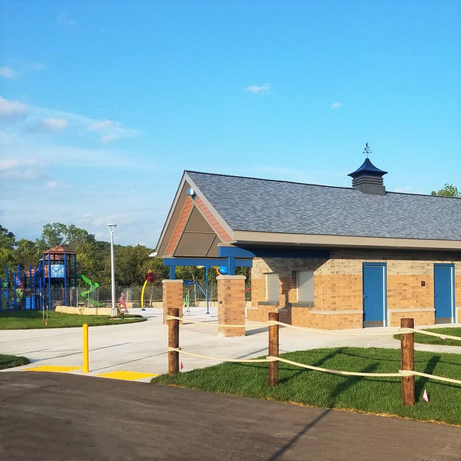
M 313 365 L 307 365 L 306 363 L 294 362 L 293 360 L 282 359 L 281 357 L 267 356 L 265 359 L 228 359 L 223 357 L 210 357 L 204 356 L 201 354 L 193 354 L 192 352 L 183 351 L 179 347 L 167 347 L 168 352 L 180 352 L 181 354 L 186 354 L 191 357 L 197 357 L 199 359 L 208 359 L 208 360 L 218 360 L 221 362 L 239 362 L 239 363 L 256 363 L 256 362 L 284 362 L 290 365 L 294 365 L 301 368 L 307 368 L 308 370 L 319 371 L 323 373 L 330 373 L 333 375 L 342 375 L 342 376 L 374 376 L 374 377 L 402 377 L 402 376 L 423 376 L 429 379 L 436 379 L 438 381 L 444 381 L 453 384 L 461 384 L 461 380 L 445 378 L 444 376 L 428 375 L 427 373 L 421 373 L 413 370 L 399 370 L 397 373 L 362 373 L 362 372 L 353 372 L 353 371 L 344 371 L 344 370 L 331 370 L 329 368 L 315 367 Z

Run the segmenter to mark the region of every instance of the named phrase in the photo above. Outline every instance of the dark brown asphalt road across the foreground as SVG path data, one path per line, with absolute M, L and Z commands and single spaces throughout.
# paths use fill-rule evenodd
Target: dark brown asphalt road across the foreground
M 461 460 L 461 428 L 114 379 L 0 374 L 4 460 Z

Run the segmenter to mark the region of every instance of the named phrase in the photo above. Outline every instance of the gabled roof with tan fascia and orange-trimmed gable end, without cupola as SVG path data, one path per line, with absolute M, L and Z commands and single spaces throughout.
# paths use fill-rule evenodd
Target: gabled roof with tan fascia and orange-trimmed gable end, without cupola
M 255 245 L 460 251 L 461 199 L 185 171 L 158 256 Z

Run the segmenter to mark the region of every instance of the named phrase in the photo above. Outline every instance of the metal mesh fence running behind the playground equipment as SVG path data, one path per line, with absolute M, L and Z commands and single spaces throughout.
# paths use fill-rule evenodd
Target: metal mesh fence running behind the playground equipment
M 142 286 L 116 286 L 115 297 L 118 302 L 122 293 L 128 307 L 141 307 Z M 206 287 L 199 284 L 183 285 L 183 300 L 186 307 L 206 307 Z M 249 282 L 245 286 L 245 300 L 251 301 L 251 288 Z M 144 290 L 144 306 L 162 307 L 162 285 L 147 284 Z M 218 284 L 208 284 L 208 302 L 218 302 Z M 9 288 L 0 293 L 0 310 L 29 310 L 41 307 L 54 309 L 56 306 L 72 307 L 110 307 L 112 303 L 112 291 L 110 286 L 98 287 L 88 292 L 87 287 L 54 288 L 45 287 L 40 293 L 38 290 L 26 289 L 23 292 Z M 210 304 L 211 305 L 211 304 Z

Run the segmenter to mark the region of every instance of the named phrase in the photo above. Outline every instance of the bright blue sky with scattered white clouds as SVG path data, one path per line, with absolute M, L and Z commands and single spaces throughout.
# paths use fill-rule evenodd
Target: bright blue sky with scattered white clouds
M 458 1 L 10 1 L 0 223 L 154 247 L 184 169 L 461 188 Z

